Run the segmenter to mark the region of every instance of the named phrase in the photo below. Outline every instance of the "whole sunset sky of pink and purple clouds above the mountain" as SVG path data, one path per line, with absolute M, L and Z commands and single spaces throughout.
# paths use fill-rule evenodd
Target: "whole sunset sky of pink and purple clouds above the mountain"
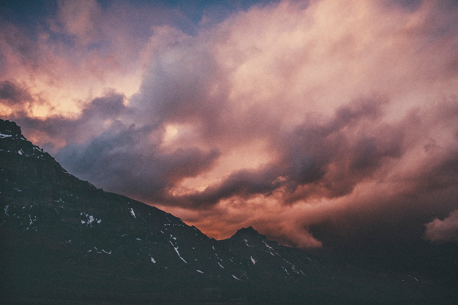
M 0 11 L 0 117 L 76 177 L 217 239 L 457 243 L 456 1 Z

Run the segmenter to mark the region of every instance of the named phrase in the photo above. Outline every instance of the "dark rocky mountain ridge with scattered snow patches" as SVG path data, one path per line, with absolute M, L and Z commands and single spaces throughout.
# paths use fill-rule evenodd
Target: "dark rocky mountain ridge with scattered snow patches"
M 217 241 L 105 192 L 0 120 L 2 304 L 422 304 L 436 283 L 371 273 L 270 241 Z M 431 304 L 431 302 L 430 302 Z

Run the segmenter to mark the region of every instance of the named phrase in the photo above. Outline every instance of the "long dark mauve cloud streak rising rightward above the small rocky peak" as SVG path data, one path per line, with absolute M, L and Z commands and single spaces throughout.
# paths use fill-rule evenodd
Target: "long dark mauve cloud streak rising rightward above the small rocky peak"
M 351 193 L 384 159 L 401 155 L 402 127 L 382 127 L 378 132 L 383 138 L 364 132 L 382 117 L 386 103 L 382 97 L 359 99 L 339 107 L 326 124 L 307 122 L 284 132 L 271 143 L 281 154 L 278 162 L 234 172 L 203 192 L 174 196 L 165 204 L 207 207 L 232 196 L 268 196 L 278 188 L 284 188 L 289 203 L 311 195 L 333 198 Z M 338 165 L 338 171 L 331 171 L 331 164 Z

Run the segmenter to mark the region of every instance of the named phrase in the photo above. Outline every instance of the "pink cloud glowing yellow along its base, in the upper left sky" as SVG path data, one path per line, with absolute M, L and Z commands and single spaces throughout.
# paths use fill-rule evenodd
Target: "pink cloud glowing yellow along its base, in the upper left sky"
M 130 97 L 141 83 L 153 27 L 185 27 L 190 21 L 161 5 L 59 0 L 39 25 L 11 24 L 2 16 L 0 23 L 0 80 L 26 84 L 46 101 L 29 109 L 30 116 L 44 118 L 74 117 L 81 104 L 107 89 Z

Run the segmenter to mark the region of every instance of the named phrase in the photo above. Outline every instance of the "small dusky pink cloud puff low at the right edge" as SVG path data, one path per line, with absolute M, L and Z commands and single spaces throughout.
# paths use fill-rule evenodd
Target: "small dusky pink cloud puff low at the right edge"
M 458 210 L 452 211 L 444 220 L 434 219 L 425 227 L 425 239 L 429 241 L 458 241 Z

